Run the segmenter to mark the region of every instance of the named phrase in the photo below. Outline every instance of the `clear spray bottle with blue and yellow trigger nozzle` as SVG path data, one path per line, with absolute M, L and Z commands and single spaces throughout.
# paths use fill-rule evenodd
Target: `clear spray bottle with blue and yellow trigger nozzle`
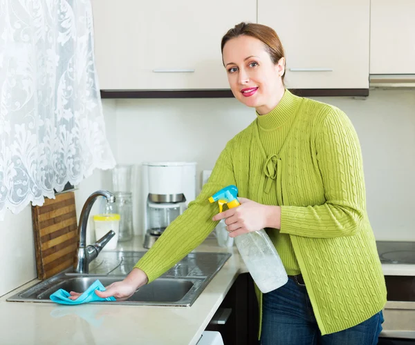
M 240 205 L 237 195 L 237 186 L 231 185 L 212 195 L 209 201 L 217 201 L 219 211 L 222 212 L 223 204 L 228 208 Z M 234 237 L 234 242 L 252 279 L 262 293 L 269 293 L 288 282 L 282 261 L 264 229 Z

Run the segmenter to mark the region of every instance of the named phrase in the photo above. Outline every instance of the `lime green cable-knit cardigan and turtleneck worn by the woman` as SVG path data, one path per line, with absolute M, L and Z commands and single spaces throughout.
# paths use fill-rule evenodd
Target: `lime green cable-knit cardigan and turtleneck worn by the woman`
M 286 269 L 301 271 L 322 335 L 382 310 L 385 279 L 367 217 L 360 145 L 344 112 L 286 90 L 272 112 L 228 142 L 201 194 L 136 264 L 149 282 L 214 229 L 218 207 L 208 198 L 230 184 L 241 197 L 282 207 L 281 229 L 267 231 Z M 257 297 L 261 310 L 258 289 Z

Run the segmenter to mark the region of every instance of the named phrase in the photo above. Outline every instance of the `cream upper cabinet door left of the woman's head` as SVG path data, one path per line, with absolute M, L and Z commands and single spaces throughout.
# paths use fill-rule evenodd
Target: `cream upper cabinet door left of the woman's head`
M 101 90 L 229 88 L 221 38 L 253 0 L 93 0 Z

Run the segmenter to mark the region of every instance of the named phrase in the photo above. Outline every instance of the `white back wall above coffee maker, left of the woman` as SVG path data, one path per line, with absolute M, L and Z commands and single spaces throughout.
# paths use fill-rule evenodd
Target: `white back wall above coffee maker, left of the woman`
M 199 190 L 201 170 L 212 169 L 226 142 L 253 117 L 236 99 L 118 100 L 118 163 L 136 164 L 134 232 L 143 233 L 142 161 L 196 161 Z

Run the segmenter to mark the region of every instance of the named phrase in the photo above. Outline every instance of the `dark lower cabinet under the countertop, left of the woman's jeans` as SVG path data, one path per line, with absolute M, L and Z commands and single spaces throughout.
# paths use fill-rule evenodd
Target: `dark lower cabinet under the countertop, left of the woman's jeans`
M 257 345 L 259 311 L 252 277 L 243 273 L 237 277 L 219 308 L 230 308 L 225 324 L 209 324 L 207 331 L 218 331 L 225 345 Z

